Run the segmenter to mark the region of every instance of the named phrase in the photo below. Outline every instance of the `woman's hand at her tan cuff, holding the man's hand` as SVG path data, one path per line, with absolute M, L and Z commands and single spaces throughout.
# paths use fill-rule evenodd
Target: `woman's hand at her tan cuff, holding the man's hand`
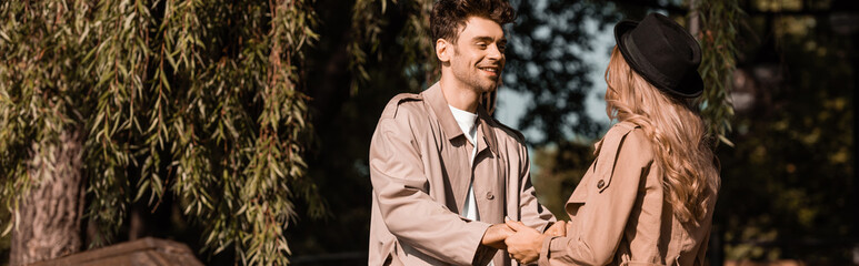
M 507 221 L 507 226 L 516 231 L 516 234 L 508 236 L 505 241 L 510 258 L 523 265 L 537 262 L 540 257 L 542 241 L 549 236 L 525 226 L 522 222 Z

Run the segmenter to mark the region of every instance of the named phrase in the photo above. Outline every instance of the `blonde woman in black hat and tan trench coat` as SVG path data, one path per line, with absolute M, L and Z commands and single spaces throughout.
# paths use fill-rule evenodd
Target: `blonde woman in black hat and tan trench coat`
M 539 265 L 703 265 L 719 187 L 716 158 L 692 100 L 700 48 L 661 14 L 615 27 L 607 113 L 619 121 L 567 201 L 565 237 L 519 223 L 510 256 Z

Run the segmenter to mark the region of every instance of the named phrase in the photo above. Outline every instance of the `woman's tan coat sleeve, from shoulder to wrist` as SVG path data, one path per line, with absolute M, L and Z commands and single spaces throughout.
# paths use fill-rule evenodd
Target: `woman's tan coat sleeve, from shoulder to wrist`
M 613 131 L 613 132 L 612 132 Z M 597 158 L 596 175 L 576 219 L 580 231 L 547 237 L 539 265 L 606 265 L 615 258 L 639 185 L 649 172 L 652 151 L 643 134 L 612 129 Z

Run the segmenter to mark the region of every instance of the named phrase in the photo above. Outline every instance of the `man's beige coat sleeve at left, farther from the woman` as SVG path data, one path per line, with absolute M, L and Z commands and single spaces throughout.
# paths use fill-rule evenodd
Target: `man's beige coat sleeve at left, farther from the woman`
M 383 116 L 370 144 L 370 180 L 384 225 L 398 242 L 446 263 L 470 265 L 478 250 L 491 258 L 497 250 L 480 245 L 490 224 L 469 222 L 428 194 L 409 116 Z

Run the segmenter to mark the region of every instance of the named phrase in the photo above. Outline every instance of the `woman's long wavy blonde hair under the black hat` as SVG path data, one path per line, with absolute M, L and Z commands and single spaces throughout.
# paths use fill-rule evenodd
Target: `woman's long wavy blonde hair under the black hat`
M 605 78 L 609 117 L 641 126 L 652 141 L 656 163 L 663 173 L 666 200 L 675 216 L 682 223 L 699 225 L 720 181 L 706 125 L 692 102 L 651 85 L 630 69 L 617 47 Z

